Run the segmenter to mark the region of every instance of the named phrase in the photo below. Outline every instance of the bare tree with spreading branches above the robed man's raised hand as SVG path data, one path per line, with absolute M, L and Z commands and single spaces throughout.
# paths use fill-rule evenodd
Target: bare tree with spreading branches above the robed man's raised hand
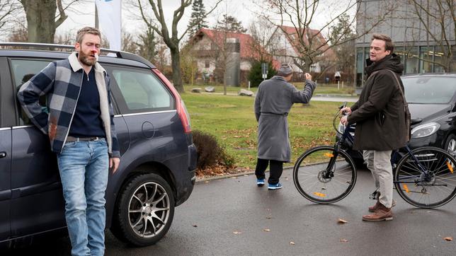
M 263 0 L 259 5 L 263 10 L 263 16 L 271 21 L 273 25 L 276 18 L 279 20 L 278 30 L 281 30 L 285 37 L 287 37 L 295 49 L 296 55 L 287 54 L 286 52 L 275 52 L 275 55 L 290 57 L 293 62 L 302 71 L 311 70 L 312 64 L 321 62 L 326 59 L 325 52 L 331 51 L 332 48 L 342 45 L 348 41 L 356 40 L 375 28 L 379 23 L 384 21 L 384 18 L 394 9 L 394 4 L 384 4 L 384 10 L 380 16 L 375 17 L 371 24 L 364 30 L 358 31 L 355 37 L 344 37 L 343 33 L 336 35 L 336 37 L 329 38 L 323 37 L 323 32 L 329 30 L 331 26 L 335 25 L 345 13 L 354 12 L 355 16 L 350 19 L 348 25 L 354 26 L 356 23 L 356 16 L 360 15 L 359 6 L 360 0 L 346 0 L 346 1 L 323 1 L 323 0 Z M 317 17 L 324 16 L 324 13 L 329 12 L 328 6 L 337 6 L 334 10 L 335 15 L 329 18 L 326 23 L 321 25 L 317 30 L 310 29 Z M 320 6 L 321 5 L 321 6 Z M 326 8 L 326 9 L 325 9 Z M 332 11 L 331 11 L 332 13 Z M 289 25 L 292 31 L 285 29 Z M 329 44 L 331 42 L 331 44 Z M 323 69 L 329 69 L 331 65 L 324 65 Z M 321 71 L 321 74 L 324 72 Z

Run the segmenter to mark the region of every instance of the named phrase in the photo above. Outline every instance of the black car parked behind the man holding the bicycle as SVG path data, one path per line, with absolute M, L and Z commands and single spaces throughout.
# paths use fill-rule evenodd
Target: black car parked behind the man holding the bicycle
M 436 146 L 456 156 L 456 74 L 408 75 L 401 79 L 412 120 L 409 147 Z M 354 131 L 354 127 L 350 129 Z M 343 131 L 342 124 L 338 130 Z M 340 137 L 336 134 L 336 140 Z M 362 163 L 363 155 L 352 146 L 344 145 L 350 156 Z

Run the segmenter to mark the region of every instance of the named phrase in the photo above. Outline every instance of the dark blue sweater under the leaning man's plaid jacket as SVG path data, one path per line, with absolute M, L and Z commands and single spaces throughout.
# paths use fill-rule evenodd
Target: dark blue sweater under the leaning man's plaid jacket
M 69 127 L 69 136 L 74 137 L 105 137 L 103 122 L 101 120 L 100 94 L 95 82 L 95 71 L 93 68 L 87 76 L 82 71 L 81 93 L 79 93 L 78 102 L 71 126 Z

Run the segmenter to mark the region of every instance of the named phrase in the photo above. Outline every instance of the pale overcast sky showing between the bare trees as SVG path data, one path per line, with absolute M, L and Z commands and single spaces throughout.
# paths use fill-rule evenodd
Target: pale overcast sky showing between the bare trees
M 131 10 L 135 10 L 135 8 L 128 5 L 129 1 L 131 0 L 122 0 L 122 29 L 132 34 L 140 33 L 145 28 L 144 23 L 140 20 L 139 12 L 132 13 Z M 210 27 L 212 27 L 224 13 L 227 13 L 241 21 L 244 28 L 249 28 L 250 23 L 254 22 L 258 17 L 258 12 L 261 12 L 261 9 L 254 4 L 255 1 L 259 2 L 261 0 L 223 0 L 217 6 L 217 9 L 207 18 L 207 21 Z M 321 28 L 329 20 L 331 15 L 336 15 L 337 9 L 341 9 L 344 1 L 350 0 L 322 0 L 323 4 L 320 4 L 318 16 L 313 19 L 312 28 Z M 217 0 L 203 0 L 206 11 L 209 11 L 216 2 Z M 169 23 L 170 33 L 173 11 L 180 3 L 181 0 L 163 0 L 164 13 L 166 21 Z M 86 25 L 94 26 L 95 3 L 91 0 L 84 0 L 82 3 L 72 6 L 67 12 L 67 15 L 67 20 L 57 28 L 57 35 L 66 33 L 76 34 L 76 31 L 81 27 Z M 178 23 L 178 31 L 180 33 L 186 29 L 190 15 L 191 6 L 186 8 L 183 18 Z M 280 21 L 277 20 L 277 23 L 280 23 Z

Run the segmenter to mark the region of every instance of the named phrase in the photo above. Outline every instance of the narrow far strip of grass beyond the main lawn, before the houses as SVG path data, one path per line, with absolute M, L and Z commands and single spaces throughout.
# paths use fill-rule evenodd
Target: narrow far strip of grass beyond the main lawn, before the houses
M 304 83 L 293 83 L 299 90 L 304 88 Z M 210 85 L 210 84 L 195 84 L 194 86 L 191 85 L 184 85 L 184 91 L 191 92 L 192 88 L 201 88 L 204 91 L 204 88 L 207 86 L 213 86 L 215 88 L 216 93 L 223 93 L 223 86 L 218 85 Z M 246 89 L 245 87 L 234 87 L 234 86 L 227 86 L 227 93 L 238 93 L 239 90 Z M 258 88 L 250 88 L 251 91 L 256 92 Z M 337 88 L 337 84 L 318 84 L 317 88 L 315 89 L 315 94 L 354 94 L 355 88 L 353 86 L 344 86 L 342 88 L 342 84 L 340 88 Z

